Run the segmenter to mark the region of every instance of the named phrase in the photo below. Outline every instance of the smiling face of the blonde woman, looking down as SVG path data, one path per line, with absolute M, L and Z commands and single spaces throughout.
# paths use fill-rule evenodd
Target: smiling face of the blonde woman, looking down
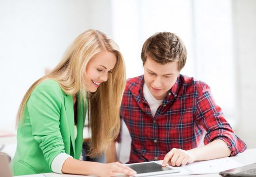
M 84 79 L 88 92 L 96 92 L 100 84 L 108 80 L 116 61 L 113 53 L 103 51 L 88 62 Z

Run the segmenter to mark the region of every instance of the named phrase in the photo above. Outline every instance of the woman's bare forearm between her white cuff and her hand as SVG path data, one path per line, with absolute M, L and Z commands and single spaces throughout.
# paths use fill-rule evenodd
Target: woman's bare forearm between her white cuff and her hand
M 84 175 L 96 174 L 96 170 L 100 169 L 99 165 L 101 165 L 101 163 L 81 161 L 73 158 L 68 158 L 62 166 L 62 172 L 69 174 Z

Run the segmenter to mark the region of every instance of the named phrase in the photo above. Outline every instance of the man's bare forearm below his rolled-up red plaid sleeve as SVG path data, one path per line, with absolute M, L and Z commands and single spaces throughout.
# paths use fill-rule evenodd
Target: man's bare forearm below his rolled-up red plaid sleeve
M 227 144 L 223 140 L 218 139 L 205 146 L 194 148 L 188 151 L 194 155 L 195 161 L 228 157 L 231 154 Z

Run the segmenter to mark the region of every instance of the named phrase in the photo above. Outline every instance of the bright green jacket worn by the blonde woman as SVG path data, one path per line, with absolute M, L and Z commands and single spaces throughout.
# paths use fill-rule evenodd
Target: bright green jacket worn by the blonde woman
M 72 96 L 65 94 L 55 80 L 46 80 L 37 85 L 19 122 L 17 149 L 11 162 L 13 174 L 52 172 L 53 159 L 63 152 L 78 159 L 86 109 L 87 103 L 78 104 L 75 139 Z

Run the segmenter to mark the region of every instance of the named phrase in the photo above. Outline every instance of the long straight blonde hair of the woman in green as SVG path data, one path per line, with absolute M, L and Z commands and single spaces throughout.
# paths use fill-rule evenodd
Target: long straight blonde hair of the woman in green
M 96 93 L 89 93 L 84 84 L 86 67 L 88 62 L 102 51 L 112 52 L 117 62 L 108 80 L 101 84 Z M 30 86 L 19 107 L 17 122 L 22 119 L 26 102 L 35 87 L 48 79 L 56 80 L 66 94 L 79 93 L 79 100 L 88 99 L 89 127 L 92 130 L 88 155 L 100 155 L 109 143 L 116 139 L 120 128 L 119 109 L 126 79 L 124 60 L 116 43 L 98 30 L 90 29 L 81 33 L 60 63 Z

